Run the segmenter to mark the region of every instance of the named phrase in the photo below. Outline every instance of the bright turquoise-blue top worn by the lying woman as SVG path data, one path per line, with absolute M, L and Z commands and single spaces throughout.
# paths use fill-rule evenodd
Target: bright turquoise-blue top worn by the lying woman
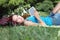
M 51 26 L 53 24 L 52 18 L 49 16 L 47 16 L 47 17 L 40 16 L 40 19 L 49 26 Z M 28 18 L 26 18 L 26 20 L 38 23 L 38 20 L 34 16 L 29 16 Z

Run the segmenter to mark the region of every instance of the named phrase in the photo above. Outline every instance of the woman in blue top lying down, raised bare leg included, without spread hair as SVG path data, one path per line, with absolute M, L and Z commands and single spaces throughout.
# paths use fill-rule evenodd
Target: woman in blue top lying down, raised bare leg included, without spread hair
M 53 11 L 47 17 L 39 16 L 37 10 L 34 10 L 34 16 L 29 16 L 24 19 L 22 16 L 13 15 L 8 18 L 8 20 L 12 20 L 14 23 L 24 24 L 25 26 L 46 26 L 46 25 L 60 25 L 60 2 L 56 5 Z M 8 21 L 7 21 L 8 22 Z M 4 23 L 4 22 L 3 22 Z M 0 23 L 1 24 L 1 23 Z

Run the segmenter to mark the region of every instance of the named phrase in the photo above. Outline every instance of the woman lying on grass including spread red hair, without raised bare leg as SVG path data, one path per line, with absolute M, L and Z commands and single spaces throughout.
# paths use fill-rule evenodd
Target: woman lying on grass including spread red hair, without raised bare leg
M 24 19 L 20 15 L 12 15 L 10 17 L 4 17 L 0 19 L 0 25 L 7 25 L 9 22 L 12 24 L 24 24 L 25 26 L 52 26 L 52 25 L 60 25 L 60 13 L 51 14 L 47 17 L 41 17 L 38 15 L 38 12 L 35 10 L 34 16 L 29 16 Z

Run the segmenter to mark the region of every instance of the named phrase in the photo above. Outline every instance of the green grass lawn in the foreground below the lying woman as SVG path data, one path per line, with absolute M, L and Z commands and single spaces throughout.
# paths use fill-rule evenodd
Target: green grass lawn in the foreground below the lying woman
M 0 27 L 0 40 L 60 40 L 60 28 L 41 26 Z

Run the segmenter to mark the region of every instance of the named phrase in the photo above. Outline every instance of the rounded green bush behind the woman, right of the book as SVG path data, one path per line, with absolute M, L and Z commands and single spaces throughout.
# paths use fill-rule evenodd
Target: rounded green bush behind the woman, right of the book
M 35 5 L 35 7 L 37 8 L 37 10 L 39 11 L 44 11 L 44 12 L 50 12 L 50 10 L 53 9 L 53 3 L 51 1 L 43 1 L 42 3 L 37 3 Z

